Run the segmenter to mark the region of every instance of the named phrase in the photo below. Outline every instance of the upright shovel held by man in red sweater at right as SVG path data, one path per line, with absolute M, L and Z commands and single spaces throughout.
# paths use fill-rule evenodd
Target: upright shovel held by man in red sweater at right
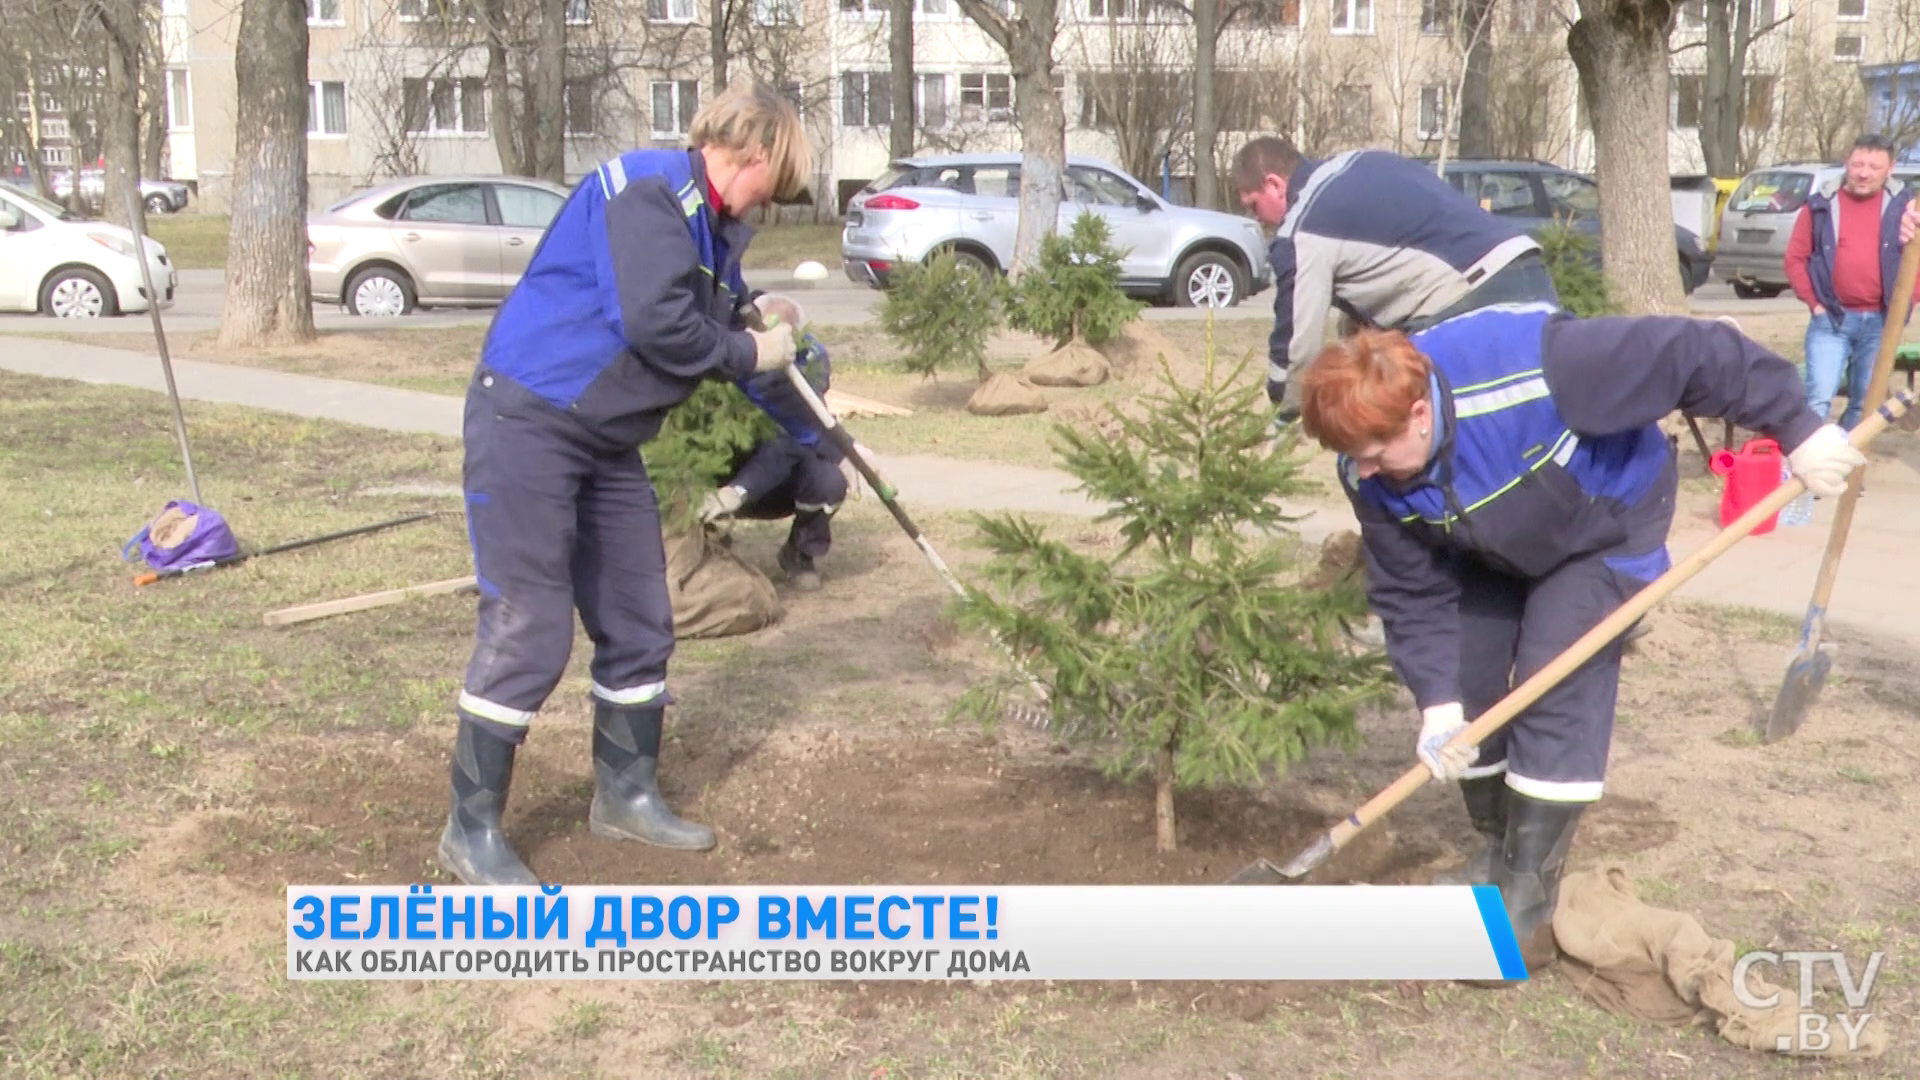
M 1887 306 L 1887 325 L 1880 334 L 1880 357 L 1874 361 L 1874 379 L 1866 386 L 1866 404 L 1860 413 L 1870 415 L 1887 396 L 1887 380 L 1893 379 L 1893 359 L 1901 348 L 1901 334 L 1907 332 L 1907 313 L 1912 306 L 1914 277 L 1920 273 L 1920 240 L 1907 244 L 1901 254 L 1901 273 L 1893 281 L 1895 302 Z M 1847 530 L 1853 527 L 1853 507 L 1860 500 L 1860 482 L 1866 467 L 1859 467 L 1847 477 L 1847 492 L 1834 507 L 1834 528 L 1826 538 L 1826 557 L 1820 559 L 1820 577 L 1814 578 L 1812 600 L 1807 603 L 1807 621 L 1801 625 L 1801 640 L 1788 657 L 1788 675 L 1780 682 L 1774 698 L 1774 711 L 1755 726 L 1761 742 L 1778 742 L 1807 723 L 1820 688 L 1826 686 L 1826 673 L 1834 667 L 1832 644 L 1826 636 L 1826 603 L 1834 596 L 1834 580 L 1839 577 L 1839 555 L 1847 550 Z

